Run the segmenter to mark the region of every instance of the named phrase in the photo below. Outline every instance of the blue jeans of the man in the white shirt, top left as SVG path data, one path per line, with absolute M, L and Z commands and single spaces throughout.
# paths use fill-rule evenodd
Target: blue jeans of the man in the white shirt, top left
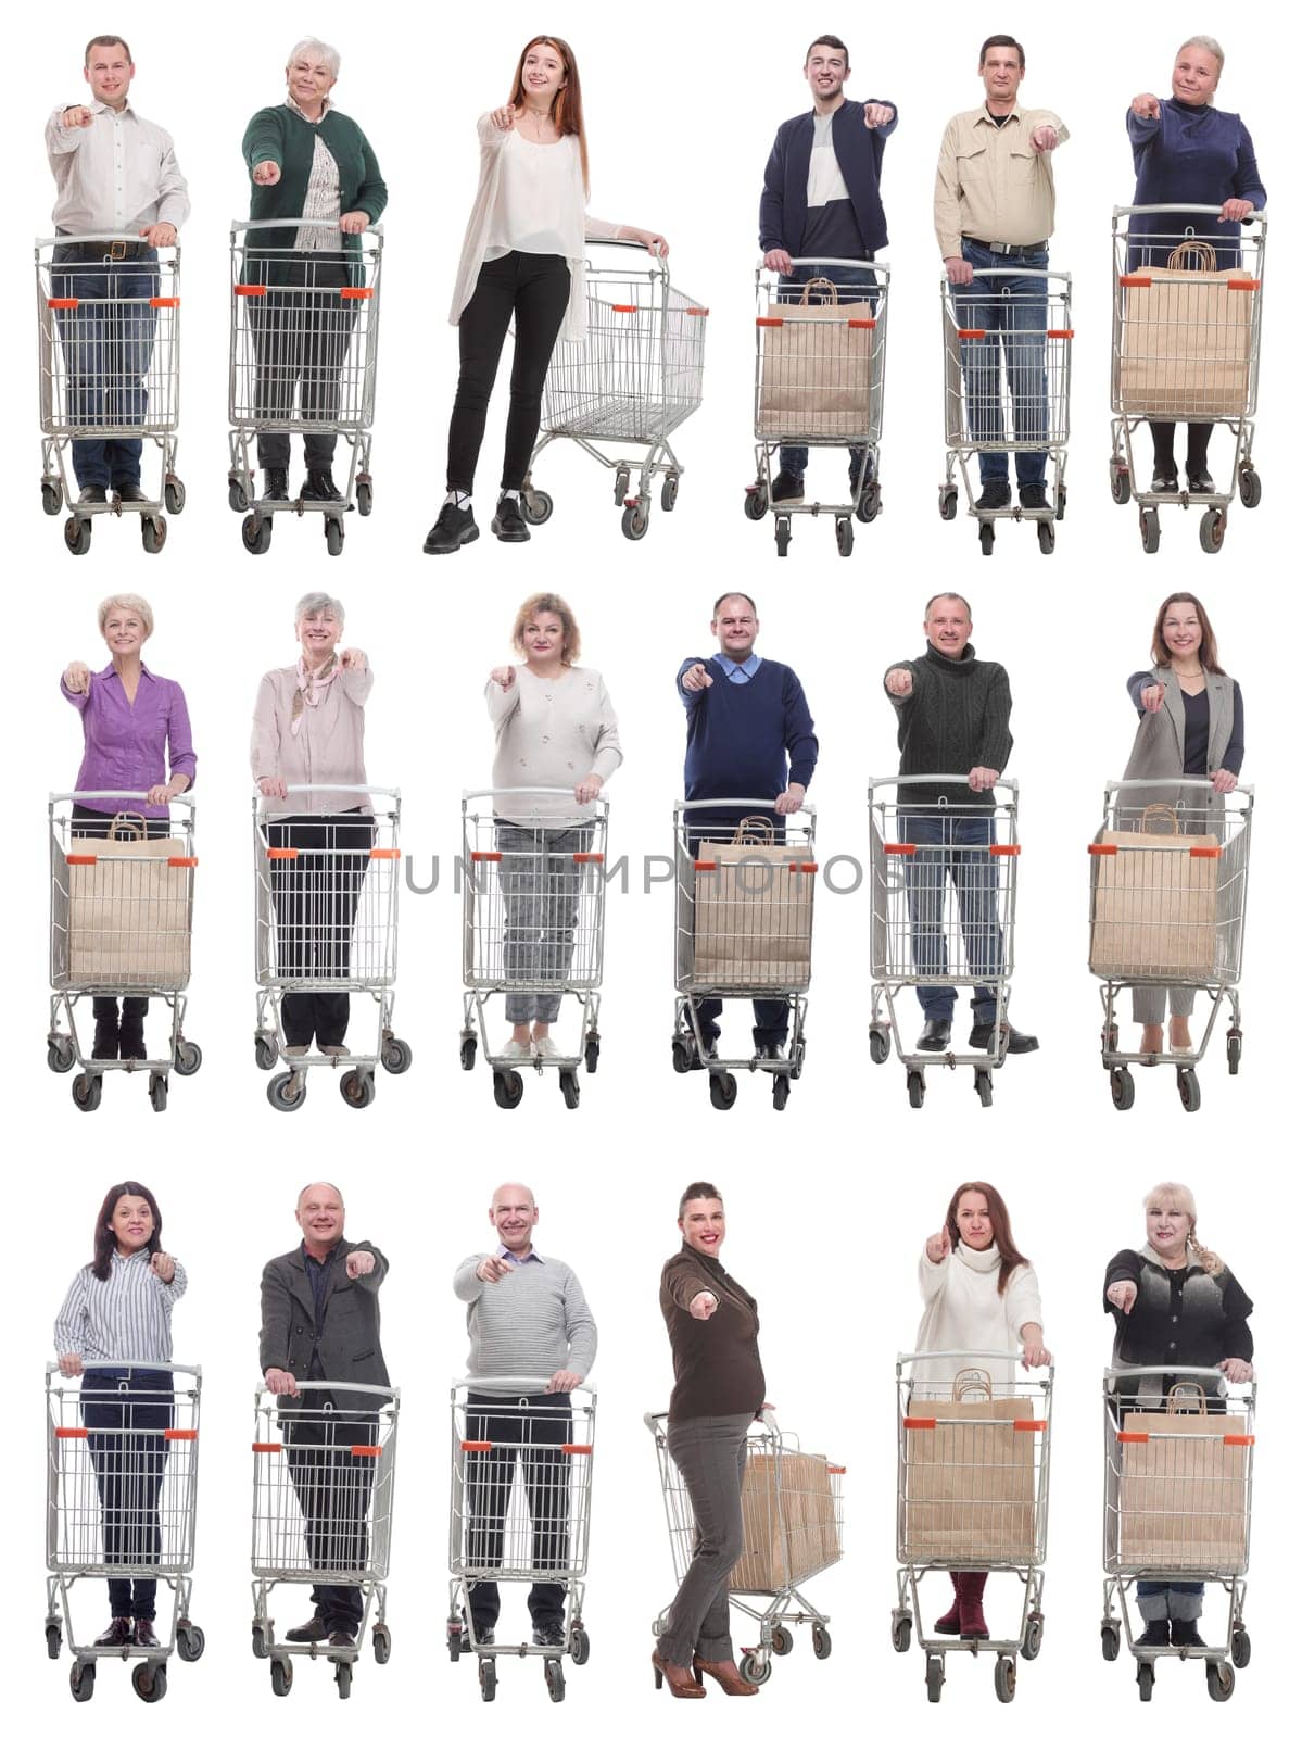
M 75 297 L 76 308 L 56 308 L 68 377 L 68 417 L 80 428 L 134 428 L 148 414 L 144 379 L 153 356 L 158 294 L 153 249 L 141 259 L 82 261 L 56 247 L 50 273 L 54 297 Z M 57 269 L 57 268 L 64 269 Z M 141 480 L 139 440 L 75 440 L 73 474 L 82 488 L 122 488 Z

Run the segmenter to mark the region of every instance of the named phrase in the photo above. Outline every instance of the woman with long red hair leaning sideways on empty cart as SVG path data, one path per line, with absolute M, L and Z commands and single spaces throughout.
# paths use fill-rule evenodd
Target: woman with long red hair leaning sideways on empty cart
M 654 229 L 589 217 L 588 139 L 574 50 L 560 36 L 534 36 L 520 56 L 511 99 L 482 115 L 480 189 L 452 295 L 461 328 L 461 374 L 447 455 L 447 499 L 424 541 L 426 554 L 475 542 L 475 466 L 506 330 L 515 322 L 511 410 L 502 487 L 492 534 L 527 542 L 520 490 L 542 415 L 542 382 L 565 322 L 565 337 L 586 332 L 584 242 L 641 242 L 664 257 Z

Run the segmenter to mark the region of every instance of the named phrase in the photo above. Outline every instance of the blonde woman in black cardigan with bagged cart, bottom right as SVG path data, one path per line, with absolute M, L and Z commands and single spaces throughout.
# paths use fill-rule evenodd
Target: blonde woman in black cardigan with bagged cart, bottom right
M 1116 1323 L 1113 1364 L 1219 1370 L 1252 1382 L 1252 1298 L 1219 1255 L 1196 1237 L 1198 1210 L 1184 1184 L 1158 1184 L 1144 1201 L 1147 1241 L 1107 1264 L 1104 1309 Z M 1153 1399 L 1179 1382 L 1154 1382 Z M 1130 1383 L 1126 1383 L 1130 1387 Z M 1133 1392 L 1146 1399 L 1147 1378 Z M 1215 1406 L 1215 1397 L 1208 1399 Z M 1201 1582 L 1139 1582 L 1140 1648 L 1205 1648 L 1198 1634 Z

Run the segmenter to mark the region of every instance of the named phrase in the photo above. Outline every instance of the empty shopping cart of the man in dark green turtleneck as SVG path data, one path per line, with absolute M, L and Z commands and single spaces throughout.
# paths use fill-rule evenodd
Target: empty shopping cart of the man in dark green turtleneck
M 949 786 L 954 799 L 921 803 L 909 787 Z M 994 1069 L 1006 1055 L 1010 980 L 1017 919 L 1017 780 L 994 784 L 994 806 L 973 801 L 963 773 L 871 779 L 873 815 L 873 1013 L 867 1053 L 895 1053 L 906 1069 L 909 1104 L 920 1111 L 927 1069 L 970 1067 L 982 1107 L 994 1095 Z M 956 1055 L 909 1050 L 895 998 L 904 989 L 987 987 L 994 994 L 994 1043 Z M 975 1006 L 975 1003 L 973 1003 Z

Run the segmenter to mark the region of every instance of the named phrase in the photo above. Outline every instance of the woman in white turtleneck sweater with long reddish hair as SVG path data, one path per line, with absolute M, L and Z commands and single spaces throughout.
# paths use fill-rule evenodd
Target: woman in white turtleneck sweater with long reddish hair
M 918 1366 L 933 1394 L 949 1399 L 949 1385 L 972 1364 L 973 1352 L 996 1385 L 1013 1378 L 1019 1352 L 1026 1370 L 1053 1361 L 1045 1345 L 1036 1270 L 1013 1243 L 1008 1208 L 993 1184 L 958 1185 L 944 1225 L 927 1239 L 918 1284 L 925 1309 L 916 1350 L 961 1354 Z M 935 1620 L 937 1634 L 986 1641 L 986 1575 L 951 1573 L 949 1580 L 954 1602 Z

